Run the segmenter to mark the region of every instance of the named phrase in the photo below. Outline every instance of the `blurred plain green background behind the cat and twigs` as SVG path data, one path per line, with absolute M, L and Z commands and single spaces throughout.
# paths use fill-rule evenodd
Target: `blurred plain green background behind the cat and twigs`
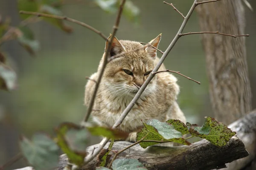
M 256 1 L 249 2 L 256 9 Z M 162 33 L 159 48 L 164 51 L 177 33 L 182 18 L 160 0 L 133 0 L 133 3 L 140 9 L 139 20 L 134 23 L 122 17 L 116 37 L 119 40 L 149 42 Z M 172 0 L 169 3 L 186 14 L 192 0 Z M 107 36 L 112 32 L 116 17 L 116 13 L 109 14 L 97 7 L 93 0 L 65 0 L 61 11 Z M 256 12 L 247 7 L 245 11 L 245 33 L 250 34 L 246 38 L 247 62 L 253 96 L 256 96 Z M 10 16 L 12 26 L 17 26 L 21 21 L 17 1 L 0 0 L 0 15 L 3 18 Z M 15 40 L 1 46 L 18 74 L 18 88 L 11 93 L 0 91 L 0 164 L 18 153 L 20 134 L 31 137 L 33 133 L 43 130 L 54 135 L 53 129 L 59 123 L 80 123 L 84 118 L 85 77 L 96 71 L 105 41 L 86 28 L 67 24 L 73 27 L 73 33 L 67 34 L 44 21 L 29 25 L 41 44 L 34 58 Z M 189 31 L 200 31 L 196 12 L 192 14 L 184 33 Z M 201 82 L 198 85 L 176 75 L 181 89 L 178 102 L 188 122 L 202 124 L 204 116 L 213 116 L 200 35 L 180 38 L 164 64 L 170 70 L 180 71 Z M 253 108 L 256 108 L 255 97 Z M 98 141 L 98 138 L 92 137 L 91 144 Z M 19 161 L 9 169 L 22 166 L 25 166 L 24 161 Z

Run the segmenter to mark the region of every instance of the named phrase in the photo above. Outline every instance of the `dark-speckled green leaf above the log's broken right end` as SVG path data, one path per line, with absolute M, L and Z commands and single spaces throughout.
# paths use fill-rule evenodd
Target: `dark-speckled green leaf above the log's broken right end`
M 187 123 L 186 125 L 189 128 L 189 133 L 193 136 L 207 139 L 209 142 L 217 146 L 225 146 L 230 138 L 236 135 L 236 132 L 233 132 L 226 125 L 218 122 L 214 118 L 205 118 L 206 119 L 202 127 Z

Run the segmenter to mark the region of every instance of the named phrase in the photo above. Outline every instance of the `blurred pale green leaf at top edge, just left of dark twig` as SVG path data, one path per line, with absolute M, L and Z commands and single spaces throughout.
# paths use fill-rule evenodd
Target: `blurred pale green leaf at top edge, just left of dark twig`
M 118 8 L 117 0 L 95 0 L 95 3 L 102 8 L 103 11 L 114 13 Z

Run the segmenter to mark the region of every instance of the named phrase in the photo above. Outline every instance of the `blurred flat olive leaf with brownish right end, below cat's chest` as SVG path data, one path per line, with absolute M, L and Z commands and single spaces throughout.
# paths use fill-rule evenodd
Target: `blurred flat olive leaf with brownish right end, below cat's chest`
M 116 129 L 101 126 L 86 126 L 89 132 L 95 136 L 104 136 L 110 139 L 126 139 L 129 135 L 127 132 L 123 132 Z

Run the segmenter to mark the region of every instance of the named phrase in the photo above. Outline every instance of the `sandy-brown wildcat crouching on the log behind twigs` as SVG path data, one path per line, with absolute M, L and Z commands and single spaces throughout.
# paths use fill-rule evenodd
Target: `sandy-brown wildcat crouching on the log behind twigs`
M 110 39 L 111 36 L 108 37 L 108 40 Z M 149 43 L 157 48 L 160 40 L 161 34 Z M 105 53 L 108 44 L 109 42 L 106 41 Z M 110 54 L 112 57 L 142 46 L 140 42 L 119 41 L 113 37 Z M 103 57 L 99 63 L 98 71 L 92 74 L 90 79 L 96 80 L 98 78 Z M 151 46 L 124 54 L 110 61 L 105 68 L 96 95 L 91 113 L 93 120 L 98 125 L 112 127 L 143 85 L 143 82 L 151 74 L 158 61 L 157 50 Z M 159 69 L 159 71 L 162 70 L 166 70 L 164 65 Z M 90 103 L 94 86 L 95 82 L 90 80 L 85 86 L 84 104 L 86 106 Z M 168 72 L 156 74 L 122 124 L 119 125 L 120 130 L 130 133 L 126 140 L 135 142 L 136 131 L 143 127 L 143 122 L 146 122 L 147 119 L 158 119 L 161 122 L 179 119 L 186 123 L 186 118 L 176 102 L 179 91 L 177 79 L 172 74 Z

